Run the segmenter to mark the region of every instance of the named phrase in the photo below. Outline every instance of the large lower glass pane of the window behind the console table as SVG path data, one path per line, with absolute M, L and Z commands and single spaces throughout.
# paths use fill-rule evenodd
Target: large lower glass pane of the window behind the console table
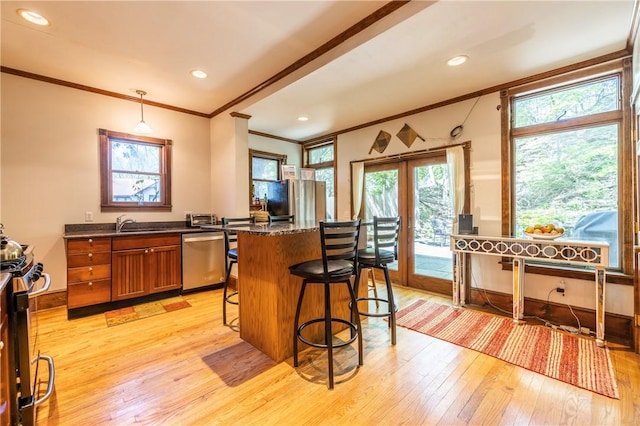
M 609 243 L 618 259 L 617 124 L 514 139 L 515 235 L 553 223 L 574 240 Z

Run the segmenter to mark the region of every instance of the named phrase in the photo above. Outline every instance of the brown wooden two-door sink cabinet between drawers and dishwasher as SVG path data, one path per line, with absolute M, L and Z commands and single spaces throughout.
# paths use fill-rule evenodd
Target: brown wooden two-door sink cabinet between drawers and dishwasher
M 180 244 L 180 234 L 115 238 L 111 299 L 130 299 L 180 288 Z

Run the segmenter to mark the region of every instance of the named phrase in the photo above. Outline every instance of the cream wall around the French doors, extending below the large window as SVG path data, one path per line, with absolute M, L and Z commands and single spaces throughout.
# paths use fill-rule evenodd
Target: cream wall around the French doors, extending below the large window
M 350 162 L 389 156 L 409 151 L 442 146 L 451 141 L 449 132 L 464 122 L 475 99 L 426 111 L 410 117 L 340 135 L 337 144 L 338 218 L 351 214 Z M 463 133 L 453 142 L 471 141 L 471 213 L 481 235 L 501 235 L 501 153 L 500 105 L 498 93 L 485 95 L 478 101 L 464 123 Z M 416 139 L 407 148 L 396 137 L 402 126 L 409 124 L 426 142 Z M 368 154 L 378 132 L 392 135 L 387 149 Z M 525 297 L 546 300 L 549 291 L 559 282 L 558 277 L 526 274 Z M 566 295 L 551 294 L 551 301 L 595 309 L 593 281 L 565 279 Z M 511 294 L 511 272 L 503 271 L 492 256 L 472 256 L 472 286 Z M 607 285 L 606 311 L 633 315 L 633 287 Z

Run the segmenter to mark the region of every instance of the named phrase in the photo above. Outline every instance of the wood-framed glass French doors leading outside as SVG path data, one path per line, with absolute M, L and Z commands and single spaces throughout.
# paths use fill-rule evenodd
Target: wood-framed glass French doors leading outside
M 453 207 L 444 152 L 365 166 L 364 178 L 365 221 L 402 218 L 398 261 L 389 266 L 393 282 L 451 294 Z

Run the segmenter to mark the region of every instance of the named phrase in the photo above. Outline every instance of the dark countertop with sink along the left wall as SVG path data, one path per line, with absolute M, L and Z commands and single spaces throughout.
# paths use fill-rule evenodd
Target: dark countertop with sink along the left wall
M 187 234 L 205 231 L 207 230 L 199 227 L 188 227 L 185 221 L 127 223 L 120 232 L 116 232 L 115 223 L 80 223 L 65 225 L 62 237 L 65 239 L 127 237 L 169 233 Z

